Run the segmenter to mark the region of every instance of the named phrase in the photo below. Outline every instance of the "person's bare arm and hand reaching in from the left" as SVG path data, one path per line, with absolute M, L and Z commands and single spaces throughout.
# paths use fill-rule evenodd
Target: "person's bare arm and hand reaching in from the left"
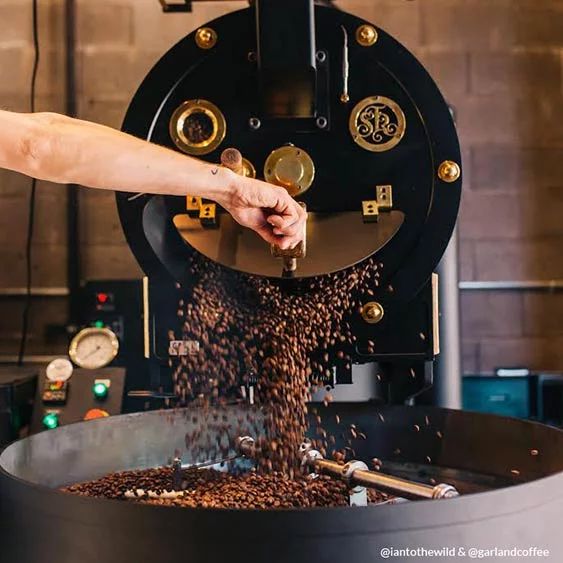
M 302 238 L 306 214 L 283 188 L 63 115 L 0 111 L 0 168 L 62 184 L 201 196 L 281 248 Z

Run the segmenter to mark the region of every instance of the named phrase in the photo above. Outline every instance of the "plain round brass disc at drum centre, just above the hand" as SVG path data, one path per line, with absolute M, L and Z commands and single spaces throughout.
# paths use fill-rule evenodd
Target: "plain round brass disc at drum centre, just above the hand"
M 264 178 L 271 184 L 282 186 L 290 195 L 297 196 L 311 187 L 315 179 L 315 165 L 303 149 L 281 147 L 266 159 Z

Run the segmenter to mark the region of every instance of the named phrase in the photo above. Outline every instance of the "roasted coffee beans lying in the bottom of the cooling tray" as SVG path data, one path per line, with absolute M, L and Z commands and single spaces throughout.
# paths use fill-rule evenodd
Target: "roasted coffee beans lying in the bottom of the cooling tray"
M 84 496 L 127 498 L 133 502 L 190 508 L 335 507 L 347 506 L 350 501 L 347 486 L 342 481 L 303 476 L 291 479 L 278 472 L 268 475 L 250 472 L 235 477 L 213 469 L 188 469 L 183 471 L 182 491 L 168 495 L 173 488 L 172 470 L 162 468 L 113 473 L 64 490 Z M 384 494 L 369 491 L 370 503 L 385 500 Z

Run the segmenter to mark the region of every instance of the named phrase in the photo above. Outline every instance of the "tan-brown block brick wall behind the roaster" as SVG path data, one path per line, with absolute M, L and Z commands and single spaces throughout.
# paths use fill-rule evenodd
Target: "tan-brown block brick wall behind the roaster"
M 41 0 L 43 60 L 38 106 L 61 111 L 62 0 Z M 374 21 L 427 66 L 455 107 L 463 146 L 460 219 L 464 280 L 563 278 L 563 1 L 341 0 Z M 163 15 L 157 0 L 83 0 L 78 5 L 79 112 L 118 127 L 135 88 L 187 32 L 243 2 L 196 4 Z M 0 6 L 0 105 L 27 107 L 30 0 Z M 0 172 L 0 287 L 24 284 L 29 181 Z M 59 186 L 39 191 L 34 285 L 65 283 Z M 113 196 L 81 190 L 81 247 L 87 278 L 138 277 Z M 37 300 L 32 351 L 50 352 L 45 322 L 64 320 L 64 300 Z M 0 353 L 15 349 L 21 302 L 0 301 Z M 464 369 L 526 364 L 563 368 L 561 293 L 464 292 Z

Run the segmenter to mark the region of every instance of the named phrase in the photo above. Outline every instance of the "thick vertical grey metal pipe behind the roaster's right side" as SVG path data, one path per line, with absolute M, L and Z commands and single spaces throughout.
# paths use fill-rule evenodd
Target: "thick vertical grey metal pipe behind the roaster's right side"
M 440 354 L 435 364 L 436 404 L 461 409 L 461 327 L 458 276 L 458 235 L 454 230 L 438 266 Z

